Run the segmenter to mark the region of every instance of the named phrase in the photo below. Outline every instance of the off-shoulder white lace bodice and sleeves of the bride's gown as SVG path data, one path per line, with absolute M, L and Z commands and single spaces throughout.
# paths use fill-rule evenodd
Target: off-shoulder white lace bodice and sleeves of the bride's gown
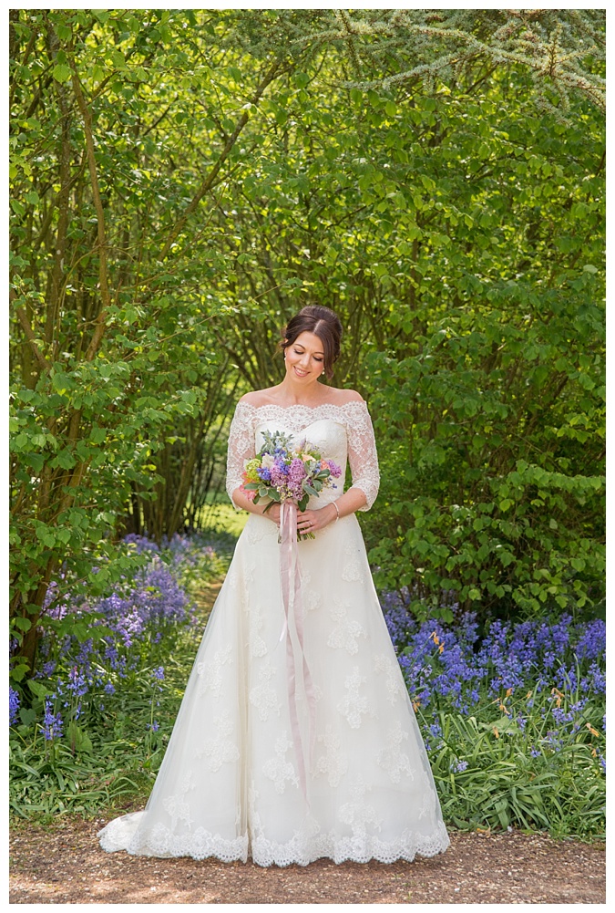
M 345 476 L 348 460 L 352 488 L 360 488 L 367 498 L 366 504 L 359 509 L 370 509 L 378 494 L 380 472 L 370 413 L 363 400 L 317 406 L 255 406 L 240 401 L 231 422 L 226 458 L 226 491 L 232 501 L 235 488 L 242 483 L 245 461 L 260 450 L 265 430 L 286 431 L 297 441 L 305 437 L 308 444 L 318 447 L 322 456 L 339 464 L 341 479 Z M 341 494 L 339 489 L 325 489 L 318 505 L 339 498 Z

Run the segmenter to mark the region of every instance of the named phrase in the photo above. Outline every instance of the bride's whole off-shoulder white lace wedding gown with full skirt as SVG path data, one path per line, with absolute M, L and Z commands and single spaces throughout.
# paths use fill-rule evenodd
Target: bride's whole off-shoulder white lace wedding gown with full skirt
M 237 404 L 230 496 L 264 430 L 307 437 L 341 467 L 339 488 L 310 508 L 341 496 L 347 459 L 370 508 L 380 477 L 365 403 Z M 449 845 L 357 518 L 297 543 L 305 654 L 291 617 L 290 665 L 277 534 L 270 519 L 250 514 L 150 799 L 100 831 L 105 850 L 305 866 L 321 856 L 412 860 Z

